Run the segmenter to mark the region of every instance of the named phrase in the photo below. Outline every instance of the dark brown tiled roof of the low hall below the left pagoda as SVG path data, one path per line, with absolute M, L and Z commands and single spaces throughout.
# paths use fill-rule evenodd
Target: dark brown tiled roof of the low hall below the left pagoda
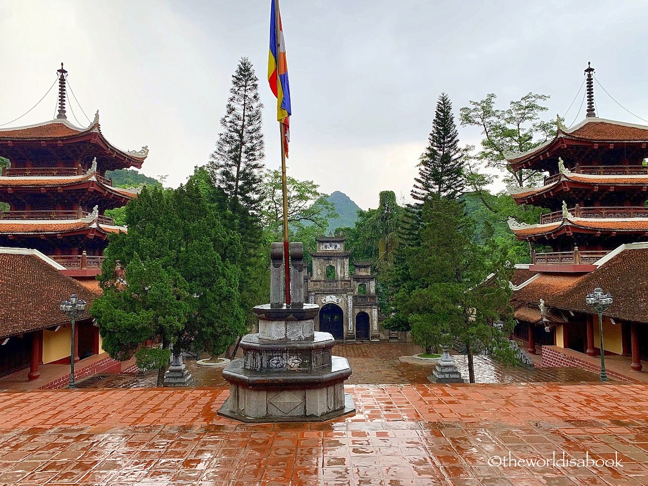
M 71 294 L 88 304 L 95 299 L 93 292 L 36 255 L 0 253 L 0 287 L 0 338 L 68 323 L 59 303 Z M 86 310 L 78 319 L 89 317 Z

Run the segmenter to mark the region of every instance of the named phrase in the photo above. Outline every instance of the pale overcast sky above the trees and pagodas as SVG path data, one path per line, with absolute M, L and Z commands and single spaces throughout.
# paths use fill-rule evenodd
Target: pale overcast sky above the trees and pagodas
M 648 3 L 281 0 L 292 112 L 288 173 L 360 207 L 408 200 L 439 93 L 458 113 L 533 91 L 564 115 L 591 61 L 625 108 L 648 119 Z M 29 110 L 60 62 L 87 116 L 120 148 L 148 145 L 142 172 L 186 181 L 214 149 L 238 59 L 259 76 L 266 166 L 279 168 L 266 82 L 270 0 L 0 0 L 0 124 Z M 596 87 L 597 115 L 643 123 Z M 581 99 L 566 117 L 570 125 Z M 71 101 L 76 118 L 88 122 Z M 10 126 L 51 119 L 56 89 Z M 70 110 L 69 121 L 76 124 Z M 461 143 L 480 132 L 459 128 Z

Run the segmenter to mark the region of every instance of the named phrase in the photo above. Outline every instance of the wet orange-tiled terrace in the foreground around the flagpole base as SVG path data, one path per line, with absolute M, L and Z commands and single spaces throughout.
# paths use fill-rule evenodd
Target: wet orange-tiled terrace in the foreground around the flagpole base
M 0 485 L 648 484 L 643 384 L 347 391 L 356 415 L 297 424 L 218 417 L 222 388 L 0 393 Z

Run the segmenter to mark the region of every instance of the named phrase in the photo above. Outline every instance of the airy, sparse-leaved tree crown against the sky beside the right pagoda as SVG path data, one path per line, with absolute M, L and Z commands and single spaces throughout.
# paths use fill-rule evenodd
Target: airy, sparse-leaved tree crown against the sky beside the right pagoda
M 540 119 L 540 114 L 548 111 L 540 103 L 549 98 L 548 95 L 527 93 L 520 100 L 511 101 L 507 110 L 499 110 L 495 108 L 496 96 L 489 93 L 483 100 L 470 100 L 470 106 L 459 110 L 461 126 L 478 126 L 485 137 L 476 158 L 486 167 L 502 170 L 506 174 L 505 182 L 524 187 L 542 178 L 533 170 L 515 172 L 505 154 L 526 152 L 555 135 L 555 122 Z

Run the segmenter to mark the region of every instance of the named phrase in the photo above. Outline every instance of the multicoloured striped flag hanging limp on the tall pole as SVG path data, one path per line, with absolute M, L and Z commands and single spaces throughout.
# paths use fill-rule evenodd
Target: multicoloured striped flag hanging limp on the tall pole
M 277 29 L 279 21 L 279 29 Z M 277 43 L 277 32 L 279 43 Z M 278 44 L 278 45 L 277 45 Z M 278 49 L 277 49 L 278 48 Z M 279 82 L 277 82 L 279 76 Z M 268 83 L 277 97 L 277 121 L 284 127 L 284 153 L 288 157 L 288 141 L 290 141 L 290 87 L 288 86 L 288 65 L 286 65 L 286 45 L 281 29 L 281 16 L 277 0 L 272 0 L 270 7 L 270 56 L 268 56 Z

